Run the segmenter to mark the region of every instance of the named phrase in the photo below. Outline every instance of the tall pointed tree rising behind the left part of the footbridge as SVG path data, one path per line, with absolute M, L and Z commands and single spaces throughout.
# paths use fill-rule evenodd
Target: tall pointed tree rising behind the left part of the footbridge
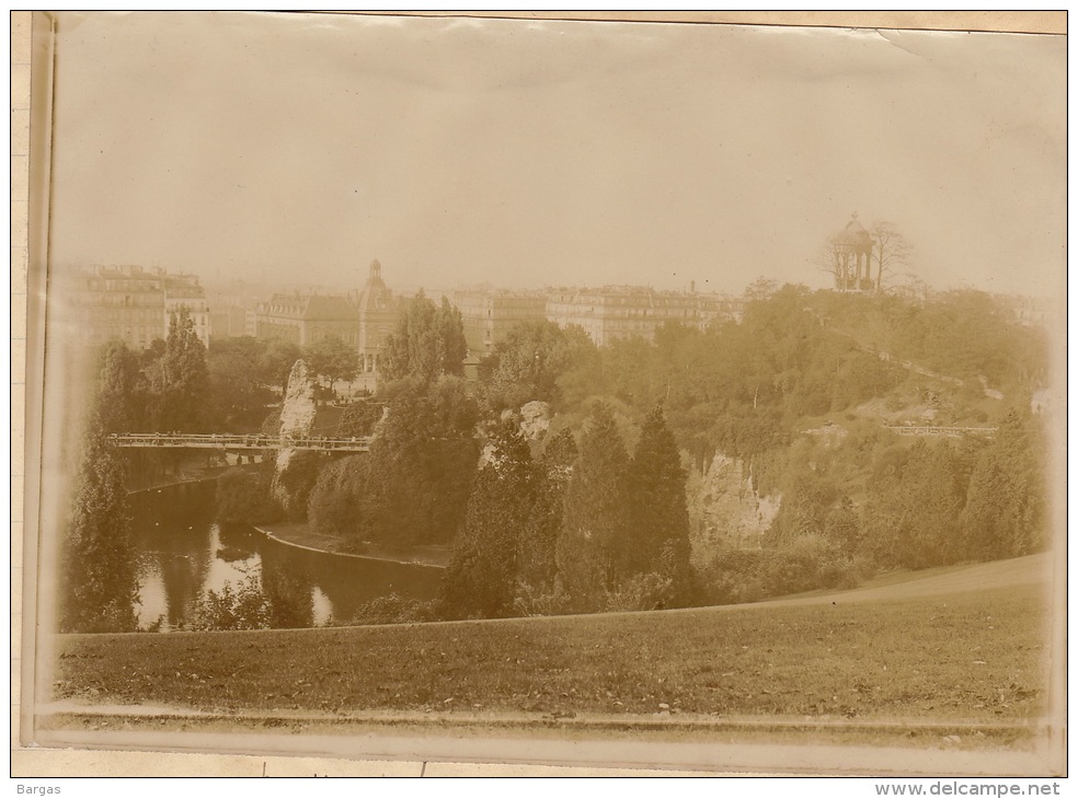
M 186 305 L 172 314 L 164 352 L 151 380 L 158 428 L 197 430 L 209 399 L 209 375 L 206 347 L 195 333 Z

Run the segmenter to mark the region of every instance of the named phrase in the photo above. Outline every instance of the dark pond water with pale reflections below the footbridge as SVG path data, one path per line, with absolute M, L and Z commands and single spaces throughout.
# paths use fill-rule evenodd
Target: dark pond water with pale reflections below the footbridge
M 213 480 L 131 494 L 140 627 L 190 622 L 209 591 L 244 586 L 267 600 L 273 627 L 347 623 L 365 602 L 434 599 L 441 569 L 331 555 L 214 521 Z

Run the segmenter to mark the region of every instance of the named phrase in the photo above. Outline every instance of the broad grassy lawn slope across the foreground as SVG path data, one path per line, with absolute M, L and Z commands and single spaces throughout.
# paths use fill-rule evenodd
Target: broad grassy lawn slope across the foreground
M 229 713 L 467 710 L 1018 721 L 1032 586 L 856 604 L 257 633 L 65 636 L 57 698 Z

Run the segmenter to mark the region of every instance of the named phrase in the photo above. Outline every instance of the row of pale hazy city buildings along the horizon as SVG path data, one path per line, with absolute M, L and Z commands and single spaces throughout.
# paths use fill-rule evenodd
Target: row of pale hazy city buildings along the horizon
M 394 292 L 375 259 L 363 287 L 346 293 L 307 290 L 272 291 L 243 283 L 208 292 L 199 276 L 171 274 L 161 267 L 94 265 L 60 281 L 74 323 L 90 345 L 111 338 L 135 350 L 165 338 L 170 319 L 186 306 L 198 338 L 253 336 L 280 338 L 306 347 L 335 336 L 356 350 L 358 379 L 377 384 L 388 337 L 397 329 L 406 302 L 415 294 Z M 837 289 L 841 290 L 841 289 Z M 550 287 L 513 290 L 489 285 L 431 292 L 447 298 L 461 314 L 468 359 L 490 356 L 519 324 L 549 321 L 561 328 L 578 326 L 596 346 L 640 337 L 653 341 L 665 324 L 707 329 L 716 322 L 739 322 L 747 300 L 722 292 L 656 290 L 644 286 Z M 1043 303 L 1031 298 L 1000 297 L 1024 325 L 1044 324 Z

